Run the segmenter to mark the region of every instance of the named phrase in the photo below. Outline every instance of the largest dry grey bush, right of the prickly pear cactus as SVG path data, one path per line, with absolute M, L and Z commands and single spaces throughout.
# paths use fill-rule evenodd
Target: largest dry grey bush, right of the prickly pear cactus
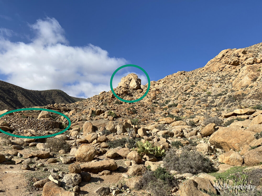
M 213 170 L 213 163 L 196 150 L 183 148 L 180 155 L 176 151 L 176 149 L 172 148 L 163 158 L 163 165 L 168 171 L 176 170 L 180 174 L 199 174 Z

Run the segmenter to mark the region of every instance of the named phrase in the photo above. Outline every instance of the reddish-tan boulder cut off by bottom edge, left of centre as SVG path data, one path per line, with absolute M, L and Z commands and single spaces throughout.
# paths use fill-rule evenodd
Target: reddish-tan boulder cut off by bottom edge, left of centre
M 53 196 L 53 195 L 77 196 L 78 194 L 70 191 L 65 191 L 63 188 L 59 187 L 56 183 L 52 181 L 46 182 L 43 187 L 42 196 Z

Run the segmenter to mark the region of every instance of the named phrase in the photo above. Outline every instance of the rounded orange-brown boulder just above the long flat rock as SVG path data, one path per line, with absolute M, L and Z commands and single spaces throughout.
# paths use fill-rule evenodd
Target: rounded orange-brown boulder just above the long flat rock
M 89 162 L 94 159 L 96 149 L 88 144 L 82 144 L 75 152 L 75 159 L 78 162 Z

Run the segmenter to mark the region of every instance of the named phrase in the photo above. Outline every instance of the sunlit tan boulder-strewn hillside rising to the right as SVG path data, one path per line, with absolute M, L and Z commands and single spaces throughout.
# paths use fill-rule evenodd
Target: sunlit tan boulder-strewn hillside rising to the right
M 262 195 L 261 49 L 151 81 L 139 102 L 103 91 L 44 106 L 71 128 L 47 140 L 1 134 L 0 195 Z M 146 89 L 129 74 L 114 91 L 134 100 Z

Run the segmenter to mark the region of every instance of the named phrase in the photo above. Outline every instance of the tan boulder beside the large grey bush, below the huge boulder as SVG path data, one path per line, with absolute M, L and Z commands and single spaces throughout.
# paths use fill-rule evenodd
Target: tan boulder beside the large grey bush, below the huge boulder
M 218 157 L 218 161 L 228 165 L 242 166 L 244 159 L 242 156 L 239 155 L 238 152 L 229 151 L 220 154 Z

